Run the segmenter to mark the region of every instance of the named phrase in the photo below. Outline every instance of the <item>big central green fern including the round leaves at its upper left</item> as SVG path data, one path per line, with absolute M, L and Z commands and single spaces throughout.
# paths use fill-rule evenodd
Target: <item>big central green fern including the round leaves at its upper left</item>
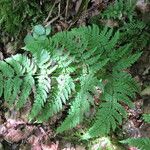
M 69 105 L 57 133 L 82 123 L 91 107 L 96 111 L 95 121 L 82 138 L 114 131 L 127 116 L 122 104 L 133 107 L 131 99 L 139 88 L 127 68 L 141 53 L 133 54 L 132 44 L 119 45 L 119 32 L 107 27 L 80 27 L 48 38 L 49 32 L 37 25 L 33 34 L 27 35 L 23 49 L 31 58 L 15 55 L 0 62 L 1 96 L 21 108 L 33 91 L 29 118 L 37 122 Z

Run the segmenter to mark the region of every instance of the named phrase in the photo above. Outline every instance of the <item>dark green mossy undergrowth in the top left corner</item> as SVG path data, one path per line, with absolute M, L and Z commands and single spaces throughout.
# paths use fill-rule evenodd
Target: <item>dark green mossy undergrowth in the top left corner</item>
M 42 23 L 52 3 L 46 0 L 1 0 L 0 30 L 13 37 L 25 32 L 31 25 Z

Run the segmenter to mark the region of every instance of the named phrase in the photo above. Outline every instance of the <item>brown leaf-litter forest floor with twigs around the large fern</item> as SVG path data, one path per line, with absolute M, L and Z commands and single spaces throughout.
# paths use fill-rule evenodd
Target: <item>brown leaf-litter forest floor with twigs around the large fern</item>
M 54 7 L 57 7 L 58 14 L 53 16 L 53 10 L 51 10 L 43 24 L 45 26 L 51 24 L 55 32 L 69 30 L 74 26 L 87 25 L 110 2 L 105 0 L 102 3 L 101 0 L 92 0 L 86 6 L 86 1 L 83 4 L 82 0 L 74 0 L 71 4 L 68 1 L 68 5 L 61 6 L 60 2 L 57 1 L 54 3 Z M 72 19 L 74 14 L 76 16 Z M 101 20 L 99 20 L 99 23 L 101 23 Z M 115 23 L 113 21 L 106 22 L 106 24 L 112 26 Z M 24 38 L 24 34 L 20 36 L 22 36 L 21 39 Z M 20 50 L 23 46 L 22 42 L 16 44 L 16 40 L 10 37 L 5 37 L 2 41 L 0 43 L 0 60 L 17 52 L 22 52 Z M 150 113 L 150 47 L 143 50 L 142 57 L 134 64 L 130 72 L 141 84 L 142 92 L 134 100 L 136 107 L 134 109 L 127 108 L 129 118 L 122 125 L 123 131 L 121 133 L 118 131 L 117 138 L 122 134 L 127 137 L 150 137 L 150 125 L 141 120 L 143 113 Z M 30 124 L 27 121 L 29 106 L 30 104 L 26 104 L 25 108 L 18 112 L 13 108 L 8 110 L 5 103 L 0 104 L 0 150 L 30 150 L 31 148 L 33 150 L 85 150 L 87 145 L 89 147 L 92 144 L 92 142 L 78 141 L 73 133 L 55 136 L 53 129 L 57 126 L 59 116 L 54 116 L 49 123 Z M 94 141 L 95 144 L 90 148 L 91 150 L 96 150 L 100 145 L 105 145 L 103 141 L 97 141 Z

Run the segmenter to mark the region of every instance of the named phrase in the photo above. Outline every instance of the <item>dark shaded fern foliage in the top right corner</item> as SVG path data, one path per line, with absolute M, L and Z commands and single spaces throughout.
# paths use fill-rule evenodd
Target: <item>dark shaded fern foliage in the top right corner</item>
M 120 30 L 120 42 L 132 43 L 133 48 L 143 49 L 150 43 L 148 19 L 139 17 L 137 0 L 115 0 L 108 5 L 99 17 L 103 21 L 112 21 Z M 146 14 L 144 14 L 146 16 Z M 108 24 L 113 27 L 113 24 Z

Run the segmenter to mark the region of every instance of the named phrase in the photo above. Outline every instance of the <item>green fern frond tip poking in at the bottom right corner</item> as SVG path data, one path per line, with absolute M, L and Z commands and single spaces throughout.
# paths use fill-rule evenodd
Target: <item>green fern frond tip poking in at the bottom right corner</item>
M 150 146 L 150 138 L 129 138 L 120 142 L 137 147 L 140 150 L 149 150 Z

